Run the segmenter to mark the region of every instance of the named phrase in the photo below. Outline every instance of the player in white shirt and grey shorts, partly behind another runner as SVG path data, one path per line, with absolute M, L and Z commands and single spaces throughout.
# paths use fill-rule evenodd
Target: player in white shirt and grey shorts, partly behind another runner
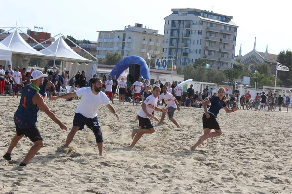
M 165 104 L 167 104 L 167 114 L 168 114 L 168 119 L 171 120 L 178 128 L 180 128 L 181 126 L 178 124 L 178 122 L 173 118 L 174 115 L 174 111 L 176 109 L 178 109 L 178 111 L 180 110 L 180 107 L 178 105 L 178 101 L 175 99 L 175 97 L 172 96 L 172 94 L 167 92 L 167 86 L 164 85 L 162 88 L 163 93 L 160 94 L 159 98 L 158 98 L 158 104 L 161 100 L 164 100 Z M 160 125 L 165 118 L 165 114 L 166 113 L 162 113 L 160 121 L 158 123 L 158 125 Z

